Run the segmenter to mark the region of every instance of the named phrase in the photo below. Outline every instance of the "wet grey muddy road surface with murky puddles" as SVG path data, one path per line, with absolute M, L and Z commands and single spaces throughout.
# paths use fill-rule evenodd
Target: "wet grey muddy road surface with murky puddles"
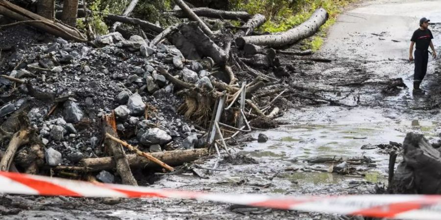
M 437 12 L 438 11 L 438 12 Z M 305 106 L 277 120 L 281 126 L 262 133 L 266 143 L 251 141 L 236 147 L 237 158 L 205 159 L 201 165 L 225 171 L 161 176 L 151 187 L 219 193 L 278 195 L 371 194 L 387 184 L 389 155 L 375 145 L 402 143 L 407 132 L 439 141 L 440 58 L 429 58 L 422 84 L 426 95 L 413 96 L 413 64 L 407 61 L 409 39 L 425 16 L 436 48 L 441 48 L 439 1 L 364 1 L 343 13 L 318 52 L 331 63 L 301 64 L 306 74 L 296 85 L 329 90 L 329 98 L 347 106 Z M 373 25 L 375 24 L 375 25 Z M 390 79 L 402 85 L 382 92 Z M 260 132 L 243 136 L 257 138 Z M 364 147 L 363 146 L 373 146 Z M 314 157 L 336 160 L 366 156 L 372 161 L 351 164 L 357 175 L 329 170 L 336 163 L 310 164 Z M 400 162 L 400 156 L 398 161 Z M 305 169 L 306 167 L 306 169 Z M 309 169 L 312 168 L 312 169 Z M 116 204 L 115 204 L 116 203 Z M 5 215 L 3 208 L 9 210 Z M 20 209 L 13 213 L 14 209 Z M 6 210 L 6 211 L 7 211 Z M 0 197 L 2 219 L 339 219 L 337 215 L 271 209 L 241 209 L 230 204 L 178 199 L 85 199 Z

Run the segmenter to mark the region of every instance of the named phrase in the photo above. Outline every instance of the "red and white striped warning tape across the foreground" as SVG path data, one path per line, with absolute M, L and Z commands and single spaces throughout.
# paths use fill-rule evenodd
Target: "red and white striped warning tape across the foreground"
M 153 189 L 0 172 L 0 193 L 113 198 L 192 198 L 256 207 L 406 220 L 440 220 L 438 195 L 269 196 Z

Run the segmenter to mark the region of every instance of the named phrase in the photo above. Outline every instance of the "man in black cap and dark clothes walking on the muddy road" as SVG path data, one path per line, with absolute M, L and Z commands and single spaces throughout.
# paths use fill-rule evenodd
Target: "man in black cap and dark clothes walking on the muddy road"
M 419 28 L 414 32 L 411 39 L 411 46 L 409 50 L 409 60 L 413 61 L 414 57 L 412 52 L 414 50 L 414 44 L 416 44 L 415 49 L 415 72 L 414 72 L 414 93 L 424 93 L 422 89 L 419 88 L 421 81 L 427 72 L 427 62 L 429 59 L 429 46 L 432 49 L 432 57 L 435 59 L 437 57 L 437 52 L 432 44 L 433 35 L 428 29 L 430 20 L 422 18 L 419 20 Z

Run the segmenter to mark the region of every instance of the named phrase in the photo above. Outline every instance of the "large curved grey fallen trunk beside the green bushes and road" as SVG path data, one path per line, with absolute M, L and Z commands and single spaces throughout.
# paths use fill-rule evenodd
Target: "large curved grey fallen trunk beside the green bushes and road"
M 246 36 L 236 38 L 236 45 L 242 48 L 245 44 L 256 44 L 270 47 L 281 47 L 293 44 L 312 36 L 328 19 L 328 13 L 323 8 L 317 9 L 306 22 L 279 34 Z

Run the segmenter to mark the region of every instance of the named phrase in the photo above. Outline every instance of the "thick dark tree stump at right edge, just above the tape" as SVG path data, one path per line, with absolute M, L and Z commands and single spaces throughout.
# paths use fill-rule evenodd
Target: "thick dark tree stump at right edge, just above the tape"
M 396 168 L 388 191 L 393 194 L 441 194 L 441 152 L 422 134 L 408 133 L 403 161 Z

